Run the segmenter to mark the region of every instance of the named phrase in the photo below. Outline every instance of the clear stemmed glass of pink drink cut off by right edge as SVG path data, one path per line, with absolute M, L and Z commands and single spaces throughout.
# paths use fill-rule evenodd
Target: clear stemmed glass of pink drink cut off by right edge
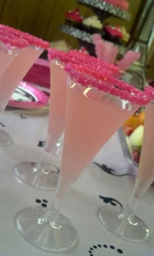
M 148 88 L 148 87 L 147 87 Z M 148 88 L 149 89 L 149 88 Z M 152 91 L 149 89 L 147 91 Z M 152 93 L 151 93 L 152 95 Z M 154 91 L 153 91 L 154 98 Z M 119 207 L 101 207 L 98 210 L 100 223 L 115 236 L 128 242 L 142 243 L 150 237 L 149 228 L 144 221 L 136 215 L 136 209 L 147 189 L 154 181 L 154 100 L 146 106 L 146 119 L 144 123 L 144 138 L 138 174 L 134 184 L 131 198 L 124 209 Z

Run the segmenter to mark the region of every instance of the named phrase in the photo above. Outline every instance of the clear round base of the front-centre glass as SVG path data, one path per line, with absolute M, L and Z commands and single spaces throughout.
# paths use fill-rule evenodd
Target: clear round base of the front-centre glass
M 41 207 L 29 207 L 20 211 L 16 215 L 16 228 L 20 235 L 44 251 L 63 253 L 74 249 L 78 244 L 76 228 L 61 214 L 58 217 L 58 224 L 47 221 L 46 213 L 47 211 Z

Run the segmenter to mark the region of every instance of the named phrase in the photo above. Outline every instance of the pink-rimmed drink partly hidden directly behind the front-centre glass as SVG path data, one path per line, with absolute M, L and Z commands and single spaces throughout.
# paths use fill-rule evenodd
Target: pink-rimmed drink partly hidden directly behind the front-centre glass
M 117 74 L 119 68 L 83 54 L 78 51 L 65 53 L 57 49 L 49 49 L 50 59 L 50 114 L 48 122 L 48 139 L 46 141 L 46 151 L 50 152 L 57 140 L 61 137 L 65 127 L 65 108 L 66 108 L 66 84 L 67 75 L 63 66 L 67 63 L 84 63 L 85 66 L 97 66 L 98 70 L 106 70 L 106 74 Z

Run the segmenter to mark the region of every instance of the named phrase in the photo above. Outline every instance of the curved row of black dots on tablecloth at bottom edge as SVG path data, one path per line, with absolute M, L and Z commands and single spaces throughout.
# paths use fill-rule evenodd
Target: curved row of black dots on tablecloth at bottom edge
M 115 255 L 118 255 L 118 254 L 123 254 L 123 250 L 122 249 L 119 249 L 119 248 L 115 248 L 114 245 L 107 245 L 107 244 L 97 244 L 97 245 L 93 245 L 89 248 L 89 256 L 95 256 L 96 252 L 99 250 L 101 253 L 102 251 L 105 251 L 105 250 L 112 250 L 112 251 L 115 251 Z

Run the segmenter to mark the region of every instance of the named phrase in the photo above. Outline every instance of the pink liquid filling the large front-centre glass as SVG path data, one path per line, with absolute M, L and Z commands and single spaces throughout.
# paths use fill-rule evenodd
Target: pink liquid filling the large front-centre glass
M 77 179 L 89 161 L 133 112 L 87 98 L 76 89 L 67 87 L 61 176 L 69 180 Z

